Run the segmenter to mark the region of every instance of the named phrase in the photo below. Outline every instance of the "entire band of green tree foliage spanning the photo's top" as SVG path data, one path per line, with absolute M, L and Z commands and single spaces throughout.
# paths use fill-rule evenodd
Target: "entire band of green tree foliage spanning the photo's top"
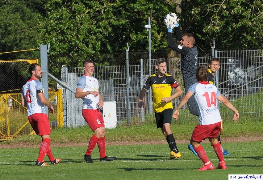
M 178 3 L 180 4 L 178 4 Z M 263 5 L 260 0 L 2 0 L 2 52 L 25 50 L 50 43 L 49 67 L 80 66 L 85 58 L 114 65 L 101 54 L 146 51 L 144 25 L 151 18 L 151 50 L 168 51 L 163 17 L 176 12 L 183 32 L 195 34 L 196 45 L 210 50 L 261 49 Z M 146 46 L 147 48 L 148 46 Z M 34 53 L 2 54 L 1 59 L 34 58 Z M 39 54 L 38 54 L 39 57 Z M 57 74 L 59 75 L 59 74 Z

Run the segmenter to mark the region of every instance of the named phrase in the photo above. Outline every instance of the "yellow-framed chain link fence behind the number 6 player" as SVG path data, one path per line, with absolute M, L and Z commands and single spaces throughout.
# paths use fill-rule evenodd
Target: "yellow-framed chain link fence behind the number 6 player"
M 0 140 L 7 140 L 25 134 L 35 134 L 27 119 L 27 108 L 21 106 L 23 85 L 30 78 L 29 64 L 38 63 L 38 59 L 1 60 L 0 61 Z M 63 126 L 62 91 L 50 91 L 48 100 L 54 105 L 55 113 L 49 113 L 51 128 Z M 63 122 L 63 121 L 62 121 Z

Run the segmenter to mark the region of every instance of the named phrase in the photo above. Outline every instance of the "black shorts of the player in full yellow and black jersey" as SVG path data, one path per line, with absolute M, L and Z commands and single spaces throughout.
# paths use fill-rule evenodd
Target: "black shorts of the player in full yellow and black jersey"
M 160 113 L 154 113 L 157 128 L 163 127 L 165 123 L 172 123 L 173 109 L 165 109 Z

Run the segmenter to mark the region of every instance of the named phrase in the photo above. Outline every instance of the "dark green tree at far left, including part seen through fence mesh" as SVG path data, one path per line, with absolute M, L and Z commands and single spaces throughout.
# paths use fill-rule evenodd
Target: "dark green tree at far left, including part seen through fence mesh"
M 40 39 L 38 15 L 44 14 L 40 0 L 0 1 L 0 52 L 36 49 Z M 39 50 L 0 54 L 1 60 L 37 59 Z M 1 63 L 0 91 L 22 88 L 28 80 L 21 63 Z

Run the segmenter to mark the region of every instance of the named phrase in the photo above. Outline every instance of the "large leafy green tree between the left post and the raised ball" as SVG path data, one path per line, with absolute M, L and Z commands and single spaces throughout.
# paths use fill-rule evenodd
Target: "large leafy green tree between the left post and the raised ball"
M 124 53 L 129 43 L 131 52 L 144 51 L 148 42 L 144 25 L 151 17 L 152 51 L 164 50 L 165 14 L 173 9 L 161 0 L 153 1 L 87 1 L 50 0 L 44 6 L 47 14 L 40 24 L 40 44 L 51 44 L 49 67 L 59 75 L 61 65 L 81 66 L 85 58 L 100 65 L 119 64 L 105 61 L 100 54 Z

